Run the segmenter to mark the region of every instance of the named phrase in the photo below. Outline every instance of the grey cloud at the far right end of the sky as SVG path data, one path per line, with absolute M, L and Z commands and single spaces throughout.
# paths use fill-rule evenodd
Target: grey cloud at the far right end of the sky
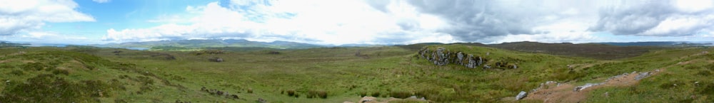
M 635 36 L 690 36 L 698 31 L 711 28 L 706 25 L 690 26 L 689 28 L 676 28 L 658 31 L 657 26 L 663 21 L 680 18 L 700 19 L 709 22 L 706 16 L 714 13 L 712 10 L 688 13 L 679 11 L 675 1 L 620 1 L 608 4 L 600 9 L 599 20 L 590 28 L 590 31 L 607 31 L 615 35 Z M 666 25 L 666 24 L 665 24 Z

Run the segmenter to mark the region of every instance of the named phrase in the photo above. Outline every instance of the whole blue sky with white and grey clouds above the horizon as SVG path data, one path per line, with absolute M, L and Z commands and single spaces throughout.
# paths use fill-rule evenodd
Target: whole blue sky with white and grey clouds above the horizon
M 714 41 L 714 0 L 0 0 L 0 40 Z

